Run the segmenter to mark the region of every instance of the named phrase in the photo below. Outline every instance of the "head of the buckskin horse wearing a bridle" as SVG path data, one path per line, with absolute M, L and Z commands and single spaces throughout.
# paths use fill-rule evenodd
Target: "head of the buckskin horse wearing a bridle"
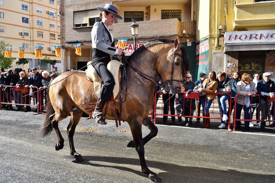
M 157 70 L 161 75 L 165 91 L 170 94 L 182 91 L 182 78 L 189 70 L 189 59 L 184 47 L 179 44 L 178 38 L 174 45 L 168 47 L 168 54 L 157 61 Z M 163 54 L 163 53 L 162 53 Z

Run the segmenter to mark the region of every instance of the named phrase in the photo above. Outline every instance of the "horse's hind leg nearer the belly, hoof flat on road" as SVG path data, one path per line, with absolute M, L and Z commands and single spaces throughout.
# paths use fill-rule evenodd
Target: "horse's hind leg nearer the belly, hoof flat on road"
M 68 133 L 69 144 L 70 144 L 70 153 L 71 153 L 71 155 L 73 155 L 75 157 L 76 161 L 83 161 L 81 154 L 79 154 L 75 151 L 74 140 L 73 140 L 73 137 L 75 134 L 75 127 L 78 124 L 82 113 L 83 112 L 79 113 L 78 111 L 72 111 L 71 112 L 71 120 L 67 127 L 67 133 Z

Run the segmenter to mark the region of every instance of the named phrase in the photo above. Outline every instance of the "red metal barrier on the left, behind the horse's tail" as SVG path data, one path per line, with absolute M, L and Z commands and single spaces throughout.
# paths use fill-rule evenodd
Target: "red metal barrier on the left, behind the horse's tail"
M 37 113 L 39 113 L 40 91 L 39 91 L 39 89 L 37 87 L 31 87 L 31 88 L 35 88 L 38 91 L 38 99 L 37 99 L 38 100 L 38 104 L 37 105 L 35 105 L 35 97 L 33 97 L 33 104 L 31 104 L 31 97 L 29 97 L 29 101 L 28 101 L 29 104 L 23 104 L 22 101 L 24 101 L 24 98 L 23 98 L 24 95 L 22 94 L 21 91 L 22 91 L 22 88 L 24 88 L 24 87 L 16 88 L 15 86 L 5 86 L 5 85 L 1 86 L 0 85 L 0 91 L 2 89 L 4 89 L 4 88 L 6 88 L 6 91 L 5 92 L 3 91 L 3 94 L 5 96 L 1 96 L 2 94 L 0 92 L 0 110 L 1 110 L 1 105 L 2 104 L 15 105 L 15 106 L 35 106 L 35 107 L 37 107 Z M 14 102 L 12 102 L 13 101 L 12 100 L 12 95 L 13 94 L 15 95 L 15 92 L 13 92 L 13 94 L 12 94 L 12 91 L 18 91 L 17 92 L 17 101 L 18 101 L 18 99 L 20 97 L 21 103 L 16 103 L 15 96 L 13 96 Z M 3 97 L 3 100 L 2 100 L 2 97 Z M 5 101 L 5 98 L 6 98 L 6 101 Z M 25 102 L 24 103 L 26 103 L 26 98 L 25 98 Z

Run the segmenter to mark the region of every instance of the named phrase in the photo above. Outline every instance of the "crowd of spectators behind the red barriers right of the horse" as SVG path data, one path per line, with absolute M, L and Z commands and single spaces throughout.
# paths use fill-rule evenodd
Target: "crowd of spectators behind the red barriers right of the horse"
M 269 72 L 261 74 L 255 73 L 253 78 L 247 73 L 240 74 L 233 73 L 232 76 L 226 76 L 226 73 L 221 71 L 216 75 L 215 71 L 211 71 L 206 78 L 205 73 L 200 73 L 200 79 L 196 82 L 192 81 L 191 74 L 187 74 L 182 82 L 182 93 L 172 95 L 167 94 L 163 87 L 156 86 L 157 91 L 163 91 L 163 114 L 168 114 L 170 106 L 170 114 L 174 115 L 175 110 L 178 115 L 178 125 L 185 126 L 192 125 L 192 117 L 185 117 L 185 122 L 182 123 L 182 116 L 194 116 L 193 112 L 196 110 L 196 123 L 200 122 L 200 108 L 202 106 L 203 124 L 202 127 L 210 127 L 209 108 L 214 99 L 217 99 L 221 124 L 218 128 L 226 128 L 230 116 L 233 116 L 232 110 L 236 100 L 236 128 L 241 128 L 241 119 L 244 121 L 244 130 L 249 131 L 254 124 L 252 121 L 253 113 L 256 110 L 255 125 L 259 126 L 261 130 L 265 130 L 266 121 L 274 120 L 274 102 L 267 100 L 274 98 L 275 84 L 272 81 Z M 157 88 L 159 87 L 159 88 Z M 183 93 L 183 91 L 185 91 Z M 191 99 L 188 95 L 191 92 L 199 92 L 199 97 Z M 214 94 L 220 93 L 220 94 Z M 239 94 L 239 95 L 238 95 Z M 256 94 L 260 95 L 255 96 Z M 238 95 L 237 98 L 235 96 Z M 159 96 L 157 96 L 157 99 Z M 229 102 L 231 98 L 231 111 L 229 111 Z M 175 102 L 175 99 L 176 102 Z M 244 117 L 241 118 L 241 111 L 244 111 Z M 268 119 L 270 117 L 270 119 Z M 168 116 L 163 116 L 161 123 L 167 123 Z M 175 124 L 175 117 L 171 116 L 171 124 Z M 233 122 L 232 122 L 233 123 Z M 275 124 L 271 123 L 275 131 Z

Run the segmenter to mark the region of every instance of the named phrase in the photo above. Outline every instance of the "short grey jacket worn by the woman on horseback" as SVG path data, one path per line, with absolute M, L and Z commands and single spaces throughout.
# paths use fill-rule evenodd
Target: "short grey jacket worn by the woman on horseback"
M 112 36 L 103 22 L 96 22 L 92 28 L 92 48 L 97 48 L 110 55 L 115 55 L 116 48 L 112 47 Z

